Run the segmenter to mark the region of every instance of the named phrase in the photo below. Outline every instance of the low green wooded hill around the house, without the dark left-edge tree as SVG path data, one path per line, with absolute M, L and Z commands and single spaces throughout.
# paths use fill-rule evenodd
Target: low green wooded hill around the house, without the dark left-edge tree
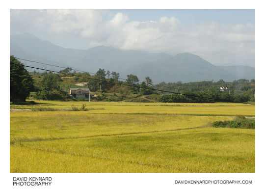
M 61 71 L 60 74 L 34 71 L 31 75 L 34 80 L 35 95 L 33 96 L 37 99 L 71 100 L 71 97 L 67 95 L 70 87 L 88 87 L 91 94 L 96 94 L 96 98 L 92 98 L 96 101 L 190 103 L 255 101 L 254 79 L 251 81 L 241 79 L 233 82 L 223 80 L 188 83 L 161 82 L 153 85 L 151 78 L 146 77 L 145 81 L 139 82 L 137 76 L 132 74 L 127 76 L 126 81 L 118 81 L 119 73 L 106 72 L 104 69 L 99 69 L 95 76 L 90 76 L 88 73 L 69 73 L 68 69 Z

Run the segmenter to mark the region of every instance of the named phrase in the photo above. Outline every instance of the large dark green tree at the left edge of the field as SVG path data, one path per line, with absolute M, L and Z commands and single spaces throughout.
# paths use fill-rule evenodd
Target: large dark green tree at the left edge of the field
M 33 79 L 24 65 L 10 56 L 10 101 L 25 101 L 33 88 Z

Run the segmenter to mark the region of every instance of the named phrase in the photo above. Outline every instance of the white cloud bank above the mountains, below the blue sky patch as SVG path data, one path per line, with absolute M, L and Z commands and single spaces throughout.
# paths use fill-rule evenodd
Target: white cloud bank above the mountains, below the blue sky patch
M 255 65 L 255 25 L 203 23 L 184 25 L 166 16 L 158 21 L 130 21 L 122 13 L 104 19 L 107 10 L 11 10 L 11 32 L 38 30 L 71 33 L 91 46 L 193 53 L 213 64 Z M 236 58 L 235 58 L 236 57 Z M 230 60 L 233 60 L 230 61 Z

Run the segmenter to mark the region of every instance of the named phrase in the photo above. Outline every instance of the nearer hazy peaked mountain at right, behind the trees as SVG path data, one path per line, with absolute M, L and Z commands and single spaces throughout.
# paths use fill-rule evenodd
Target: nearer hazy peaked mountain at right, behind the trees
M 165 82 L 192 82 L 192 81 L 234 81 L 238 79 L 255 78 L 255 68 L 249 66 L 227 66 L 225 69 L 218 67 L 202 59 L 200 56 L 184 53 L 152 62 L 136 65 L 130 69 L 123 70 L 123 77 L 132 73 L 140 80 L 147 75 L 154 83 Z M 237 72 L 237 67 L 240 70 Z M 234 68 L 234 70 L 233 70 Z M 226 70 L 227 69 L 227 70 Z

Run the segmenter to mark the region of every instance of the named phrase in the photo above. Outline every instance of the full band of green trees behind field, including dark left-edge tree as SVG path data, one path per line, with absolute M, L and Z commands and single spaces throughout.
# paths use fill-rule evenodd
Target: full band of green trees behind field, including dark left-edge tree
M 12 64 L 15 63 L 15 64 Z M 28 73 L 23 64 L 14 56 L 10 56 L 10 101 L 25 101 L 30 91 L 35 91 L 35 98 L 47 100 L 71 99 L 69 96 L 69 85 L 61 86 L 64 78 L 71 78 L 74 82 L 87 83 L 90 91 L 97 92 L 101 89 L 103 93 L 114 92 L 118 94 L 148 95 L 147 98 L 155 99 L 159 102 L 247 102 L 255 101 L 255 80 L 237 80 L 225 82 L 219 80 L 200 82 L 161 82 L 153 84 L 150 77 L 139 82 L 135 75 L 127 75 L 126 81 L 119 81 L 118 72 L 110 72 L 100 68 L 95 75 L 83 72 L 73 72 L 71 67 L 60 70 L 58 74 L 52 72 Z M 220 87 L 223 90 L 220 90 Z M 149 89 L 147 89 L 149 88 Z M 180 94 L 170 94 L 152 90 L 150 88 L 178 92 Z M 100 98 L 98 100 L 103 100 Z

